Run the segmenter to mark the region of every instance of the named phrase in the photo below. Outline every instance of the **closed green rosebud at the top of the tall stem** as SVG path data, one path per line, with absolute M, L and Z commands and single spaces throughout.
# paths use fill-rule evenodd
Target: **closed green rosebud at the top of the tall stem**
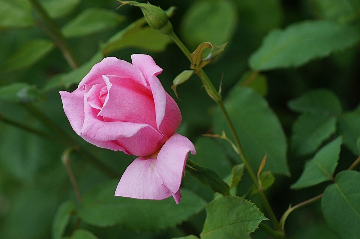
M 144 14 L 146 22 L 151 28 L 157 29 L 164 34 L 168 34 L 172 31 L 172 25 L 168 19 L 168 16 L 164 10 L 160 7 L 151 5 L 148 3 L 138 3 L 136 1 L 119 1 L 122 5 L 130 4 L 132 6 L 137 6 L 141 9 Z

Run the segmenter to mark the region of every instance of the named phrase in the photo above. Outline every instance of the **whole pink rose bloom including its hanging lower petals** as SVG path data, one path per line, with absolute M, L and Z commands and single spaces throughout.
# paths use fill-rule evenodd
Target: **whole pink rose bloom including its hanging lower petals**
M 148 55 L 132 64 L 116 57 L 93 66 L 78 88 L 61 91 L 73 130 L 87 142 L 136 155 L 122 175 L 115 196 L 179 203 L 180 184 L 192 142 L 175 133 L 181 113 L 162 87 L 162 69 Z

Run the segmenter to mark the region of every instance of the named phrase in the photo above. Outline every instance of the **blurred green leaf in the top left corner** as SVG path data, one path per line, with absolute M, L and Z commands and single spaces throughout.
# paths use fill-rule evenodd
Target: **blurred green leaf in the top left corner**
M 0 29 L 35 24 L 28 0 L 0 0 Z

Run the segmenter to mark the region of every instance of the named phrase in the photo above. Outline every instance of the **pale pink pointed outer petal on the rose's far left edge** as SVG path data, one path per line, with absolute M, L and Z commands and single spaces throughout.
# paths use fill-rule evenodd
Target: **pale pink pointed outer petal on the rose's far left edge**
M 72 129 L 80 135 L 84 124 L 84 92 L 78 89 L 71 93 L 60 91 L 60 96 Z

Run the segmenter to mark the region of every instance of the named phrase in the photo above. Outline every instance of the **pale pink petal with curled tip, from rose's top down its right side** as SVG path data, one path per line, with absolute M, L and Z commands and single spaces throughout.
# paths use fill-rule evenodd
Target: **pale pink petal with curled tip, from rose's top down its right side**
M 133 54 L 131 55 L 131 60 L 132 64 L 143 72 L 145 79 L 151 88 L 155 102 L 156 122 L 157 127 L 159 128 L 165 116 L 166 108 L 166 93 L 159 79 L 156 77 L 162 72 L 162 69 L 156 65 L 153 58 L 148 55 Z

